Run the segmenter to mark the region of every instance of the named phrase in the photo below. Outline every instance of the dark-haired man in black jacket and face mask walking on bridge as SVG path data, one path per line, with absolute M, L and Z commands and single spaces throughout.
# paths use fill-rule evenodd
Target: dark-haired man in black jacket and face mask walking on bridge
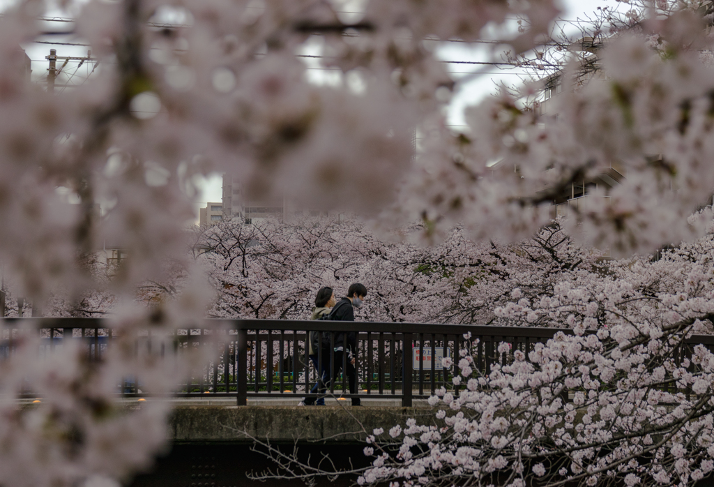
M 334 321 L 355 321 L 354 308 L 362 306 L 366 296 L 367 288 L 361 283 L 353 283 L 347 290 L 347 296 L 334 306 L 329 319 Z M 354 331 L 338 331 L 335 333 L 332 380 L 336 381 L 338 373 L 343 370 L 347 376 L 351 394 L 357 393 L 356 352 L 357 334 Z M 362 406 L 360 398 L 353 397 L 352 406 Z

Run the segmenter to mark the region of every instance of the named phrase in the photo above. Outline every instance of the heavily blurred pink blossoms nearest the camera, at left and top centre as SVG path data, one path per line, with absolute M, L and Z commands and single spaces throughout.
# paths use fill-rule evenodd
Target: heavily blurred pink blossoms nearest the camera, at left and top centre
M 548 0 L 456 1 L 446 16 L 435 2 L 371 1 L 348 25 L 339 3 L 64 1 L 99 69 L 54 94 L 26 81 L 18 49 L 45 29 L 38 16 L 46 5 L 24 0 L 4 12 L 4 279 L 34 313 L 111 310 L 118 338 L 99 363 L 71 346 L 38 363 L 36 336 L 17 337 L 17 353 L 1 364 L 0 388 L 14 396 L 29 381 L 44 397 L 22 411 L 3 406 L 0 483 L 114 485 L 164 445 L 165 406 L 119 408 L 112 397 L 116 383 L 139 372 L 146 392 L 167 393 L 200 359 L 169 367 L 150 351 L 129 353 L 131 336 L 151 329 L 147 339 L 170 341 L 177 328 L 205 317 L 215 297 L 186 254 L 193 176 L 230 171 L 251 196 L 375 215 L 410 171 L 416 126 L 441 117 L 435 92 L 453 85 L 423 38 L 476 39 L 483 26 L 515 13 L 532 20 L 533 29 L 513 41 L 528 49 L 556 13 Z M 167 18 L 182 26 L 150 24 Z M 343 36 L 346 30 L 358 35 Z M 321 34 L 323 67 L 343 70 L 349 84 L 308 83 L 295 54 L 313 31 Z M 106 242 L 130 256 L 112 273 L 95 257 Z M 180 284 L 162 287 L 176 276 Z

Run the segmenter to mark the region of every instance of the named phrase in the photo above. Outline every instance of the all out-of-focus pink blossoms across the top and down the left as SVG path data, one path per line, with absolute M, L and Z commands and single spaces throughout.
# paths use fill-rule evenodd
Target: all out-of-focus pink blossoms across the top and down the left
M 65 1 L 79 12 L 76 33 L 91 44 L 101 69 L 57 94 L 24 79 L 17 49 L 43 29 L 37 16 L 44 3 L 19 1 L 6 11 L 0 18 L 6 278 L 36 309 L 59 291 L 78 303 L 97 301 L 96 291 L 106 290 L 121 310 L 112 318 L 119 331 L 151 328 L 156 339 L 169 336 L 206 316 L 213 299 L 185 252 L 193 176 L 213 171 L 235 174 L 249 196 L 356 211 L 390 230 L 421 221 L 419 240 L 428 243 L 443 241 L 457 224 L 477 239 L 508 243 L 550 221 L 558 191 L 617 162 L 626 179 L 609 195 L 593 194 L 607 201 L 593 198 L 573 209 L 564 223 L 569 234 L 626 255 L 703 233 L 710 215 L 689 216 L 714 187 L 714 76 L 708 17 L 697 8 L 633 6 L 627 18 L 646 35 L 613 29 L 601 54 L 604 79 L 564 83 L 557 118 L 503 94 L 468 109 L 472 136 L 454 136 L 443 109 L 459 85 L 425 38 L 471 42 L 487 24 L 517 15 L 522 29 L 505 41 L 513 53 L 525 53 L 545 39 L 558 13 L 553 2 L 453 0 L 444 8 L 437 1 L 372 0 L 359 19 L 344 16 L 342 3 Z M 181 27 L 149 23 L 161 23 L 166 12 L 180 16 Z M 306 64 L 296 58 L 308 44 L 319 46 L 319 66 L 338 72 L 337 82 L 308 82 Z M 569 66 L 563 79 L 577 69 Z M 420 154 L 412 146 L 416 133 L 423 135 Z M 496 161 L 505 170 L 494 170 Z M 79 204 L 62 202 L 58 188 Z M 105 241 L 131 256 L 111 277 L 96 272 L 91 257 Z M 147 300 L 146 309 L 131 308 L 138 288 L 151 292 L 143 283 L 159 283 L 177 269 L 186 275 L 180 289 Z M 546 319 L 533 302 L 506 308 L 503 318 Z M 91 484 L 145 465 L 163 444 L 159 418 L 166 411 L 142 406 L 120 413 L 109 385 L 141 368 L 147 389 L 161 391 L 176 370 L 150 355 L 129 360 L 121 346 L 99 366 L 71 348 L 53 366 L 37 365 L 29 358 L 34 346 L 26 338 L 3 365 L 6 393 L 16 393 L 17 371 L 26 368 L 47 398 L 39 408 L 8 411 L 0 434 L 12 446 L 0 483 Z M 493 448 L 503 441 L 494 440 Z M 27 467 L 37 458 L 43 468 Z M 506 461 L 492 460 L 488 468 Z M 34 477 L 24 477 L 27 471 Z

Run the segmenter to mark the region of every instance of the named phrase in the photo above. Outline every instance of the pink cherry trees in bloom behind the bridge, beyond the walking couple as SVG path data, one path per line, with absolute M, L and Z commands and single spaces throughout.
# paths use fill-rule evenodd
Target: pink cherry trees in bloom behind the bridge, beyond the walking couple
M 600 271 L 602 252 L 575 246 L 559 221 L 509 245 L 471 241 L 463 229 L 434 247 L 408 242 L 421 231 L 405 227 L 390 240 L 353 218 L 251 226 L 233 219 L 204 229 L 196 248 L 218 292 L 212 316 L 221 318 L 305 319 L 322 286 L 340 296 L 361 282 L 370 298 L 359 319 L 494 323 L 515 287 L 552 296 L 558 283 Z

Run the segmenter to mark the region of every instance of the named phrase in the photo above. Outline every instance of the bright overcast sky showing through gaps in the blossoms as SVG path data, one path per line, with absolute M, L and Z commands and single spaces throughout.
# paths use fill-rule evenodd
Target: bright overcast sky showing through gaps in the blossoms
M 360 1 L 360 0 L 353 0 Z M 378 0 L 378 1 L 388 1 L 388 0 Z M 14 0 L 0 0 L 0 11 L 4 10 L 7 6 L 11 5 Z M 583 18 L 583 16 L 591 14 L 598 6 L 604 6 L 610 4 L 615 6 L 615 0 L 560 0 L 562 4 L 563 14 L 561 14 L 563 19 L 577 19 Z M 52 12 L 56 16 L 71 16 L 61 11 Z M 47 22 L 46 31 L 64 31 L 72 28 L 72 24 L 63 22 Z M 494 33 L 496 35 L 496 33 Z M 501 33 L 503 34 L 503 32 Z M 87 48 L 84 46 L 64 46 L 64 45 L 51 45 L 42 44 L 41 42 L 81 42 L 81 40 L 74 39 L 70 36 L 44 36 L 37 39 L 36 43 L 27 44 L 24 47 L 27 54 L 32 59 L 32 70 L 33 78 L 40 81 L 46 77 L 46 70 L 48 67 L 45 56 L 49 54 L 50 49 L 56 49 L 58 56 L 86 56 Z M 448 46 L 440 49 L 439 56 L 441 59 L 453 60 L 453 61 L 478 61 L 488 59 L 488 45 L 481 44 L 481 46 L 476 46 L 475 48 L 467 48 L 463 44 L 451 43 Z M 86 78 L 91 73 L 93 65 L 91 63 L 84 63 L 79 69 L 77 69 L 77 62 L 74 64 L 70 63 L 66 66 L 64 71 L 72 75 L 74 74 L 73 81 L 78 81 Z M 60 66 L 58 62 L 57 66 Z M 450 64 L 449 70 L 452 71 L 453 76 L 458 79 L 463 76 L 468 76 L 468 73 L 481 69 L 482 74 L 476 79 L 468 81 L 468 83 L 461 84 L 456 91 L 455 96 L 453 96 L 453 101 L 449 107 L 448 111 L 448 122 L 458 129 L 458 126 L 463 126 L 463 108 L 465 106 L 476 104 L 478 101 L 483 99 L 485 96 L 493 94 L 496 89 L 497 84 L 506 83 L 514 84 L 518 82 L 519 73 L 522 71 L 518 69 L 498 69 L 496 66 L 483 66 L 469 65 L 469 64 Z M 319 78 L 321 73 L 325 71 L 311 71 L 313 76 Z M 60 81 L 58 79 L 58 83 Z M 198 197 L 198 206 L 205 206 L 206 202 L 216 202 L 221 201 L 221 176 L 216 174 L 213 177 L 209 177 L 203 181 L 203 191 Z

